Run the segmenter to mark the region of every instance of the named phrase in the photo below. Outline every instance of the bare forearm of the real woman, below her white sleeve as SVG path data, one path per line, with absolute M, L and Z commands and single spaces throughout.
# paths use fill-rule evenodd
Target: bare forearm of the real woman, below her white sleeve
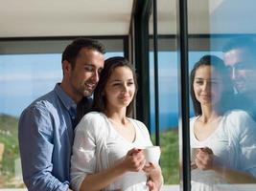
M 98 191 L 113 183 L 125 173 L 121 165 L 116 165 L 94 175 L 88 175 L 81 183 L 81 191 Z

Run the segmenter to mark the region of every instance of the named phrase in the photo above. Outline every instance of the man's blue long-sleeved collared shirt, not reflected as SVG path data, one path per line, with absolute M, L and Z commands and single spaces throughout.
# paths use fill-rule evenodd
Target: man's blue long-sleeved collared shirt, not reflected
M 20 116 L 19 149 L 28 190 L 66 191 L 73 144 L 72 117 L 76 103 L 57 84 L 36 99 Z

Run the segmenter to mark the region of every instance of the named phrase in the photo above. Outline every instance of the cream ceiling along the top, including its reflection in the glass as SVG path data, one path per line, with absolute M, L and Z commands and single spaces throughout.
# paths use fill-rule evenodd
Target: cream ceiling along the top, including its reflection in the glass
M 158 33 L 175 34 L 176 0 L 157 4 Z M 0 5 L 0 37 L 126 35 L 133 0 L 0 0 Z M 255 0 L 188 0 L 189 32 L 256 32 L 255 7 Z

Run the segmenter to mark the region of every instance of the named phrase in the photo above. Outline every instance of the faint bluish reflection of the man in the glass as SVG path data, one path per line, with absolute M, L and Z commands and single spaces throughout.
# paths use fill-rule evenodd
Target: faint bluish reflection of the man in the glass
M 256 42 L 249 37 L 232 39 L 223 48 L 223 59 L 234 83 L 236 102 L 256 120 Z

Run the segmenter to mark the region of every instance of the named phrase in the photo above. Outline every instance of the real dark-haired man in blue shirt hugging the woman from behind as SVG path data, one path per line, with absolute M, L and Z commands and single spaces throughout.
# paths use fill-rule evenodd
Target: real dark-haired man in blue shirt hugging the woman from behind
M 69 190 L 76 107 L 82 98 L 90 103 L 104 67 L 104 53 L 104 46 L 95 40 L 73 41 L 62 53 L 61 83 L 21 114 L 18 139 L 28 190 Z

